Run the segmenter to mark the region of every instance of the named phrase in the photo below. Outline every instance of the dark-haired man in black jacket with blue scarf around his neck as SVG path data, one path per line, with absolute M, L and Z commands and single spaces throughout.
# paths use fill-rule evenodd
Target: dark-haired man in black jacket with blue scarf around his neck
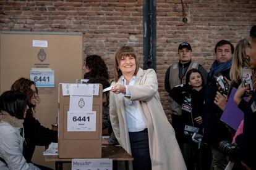
M 211 147 L 213 166 L 216 169 L 224 169 L 228 163 L 227 156 L 218 150 L 221 140 L 231 140 L 231 133 L 225 124 L 220 121 L 223 111 L 214 103 L 218 86 L 215 75 L 223 75 L 229 79 L 229 70 L 232 65 L 234 46 L 226 40 L 219 41 L 215 46 L 216 60 L 208 73 L 207 87 L 205 89 L 205 127 L 203 142 Z

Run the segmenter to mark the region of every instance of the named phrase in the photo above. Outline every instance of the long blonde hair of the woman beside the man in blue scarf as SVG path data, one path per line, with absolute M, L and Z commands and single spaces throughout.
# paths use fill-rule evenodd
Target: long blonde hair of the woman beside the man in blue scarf
M 239 83 L 239 81 L 241 80 L 241 68 L 250 68 L 250 59 L 249 56 L 246 55 L 246 49 L 249 48 L 249 46 L 250 43 L 249 39 L 247 38 L 241 39 L 236 44 L 232 66 L 229 72 L 231 81 L 234 81 L 235 83 Z

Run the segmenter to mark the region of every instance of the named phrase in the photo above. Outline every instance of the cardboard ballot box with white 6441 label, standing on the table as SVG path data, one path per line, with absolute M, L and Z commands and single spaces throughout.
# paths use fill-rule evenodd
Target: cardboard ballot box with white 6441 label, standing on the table
M 77 84 L 77 87 L 87 85 L 90 84 Z M 89 97 L 92 99 L 90 103 L 90 99 L 86 98 L 87 94 L 80 95 L 78 92 L 79 95 L 68 95 L 70 87 L 74 84 L 59 84 L 59 158 L 101 158 L 103 94 L 102 85 L 96 85 L 98 94 L 95 94 L 93 89 L 95 95 L 92 95 L 93 99 Z M 82 89 L 81 92 L 84 91 L 87 90 Z M 92 110 L 84 109 L 90 107 L 90 104 Z M 75 109 L 82 111 L 72 111 Z

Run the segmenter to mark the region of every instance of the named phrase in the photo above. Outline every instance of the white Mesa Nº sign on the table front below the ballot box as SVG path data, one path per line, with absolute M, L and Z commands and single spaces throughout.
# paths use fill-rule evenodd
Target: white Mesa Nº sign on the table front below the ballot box
M 112 170 L 113 160 L 100 159 L 72 159 L 72 170 Z

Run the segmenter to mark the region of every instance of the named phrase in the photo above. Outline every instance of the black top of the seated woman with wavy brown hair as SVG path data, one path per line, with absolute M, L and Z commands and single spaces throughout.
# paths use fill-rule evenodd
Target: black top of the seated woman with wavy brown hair
M 51 142 L 58 142 L 58 132 L 41 126 L 33 116 L 24 119 L 25 142 L 23 143 L 23 156 L 27 163 L 31 162 L 35 146 L 48 146 Z

